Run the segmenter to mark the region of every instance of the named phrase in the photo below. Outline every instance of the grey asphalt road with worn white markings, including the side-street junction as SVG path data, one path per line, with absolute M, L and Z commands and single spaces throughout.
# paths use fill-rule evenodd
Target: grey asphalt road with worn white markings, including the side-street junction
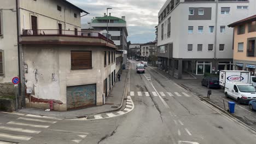
M 135 104 L 130 113 L 94 121 L 0 113 L 0 144 L 255 143 L 256 135 L 150 67 L 145 74 L 136 74 L 136 63 L 130 64 L 128 89 Z

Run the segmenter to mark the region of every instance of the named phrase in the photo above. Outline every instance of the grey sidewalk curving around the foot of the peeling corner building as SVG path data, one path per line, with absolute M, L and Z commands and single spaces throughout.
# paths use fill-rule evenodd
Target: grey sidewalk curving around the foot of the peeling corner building
M 88 107 L 80 110 L 73 111 L 45 111 L 42 109 L 24 108 L 19 110 L 21 113 L 28 113 L 32 115 L 56 117 L 56 118 L 77 118 L 81 116 L 92 115 L 94 113 L 101 113 L 105 111 L 115 110 L 121 105 L 123 98 L 126 76 L 129 69 L 123 70 L 120 81 L 117 81 L 106 98 L 106 105 Z

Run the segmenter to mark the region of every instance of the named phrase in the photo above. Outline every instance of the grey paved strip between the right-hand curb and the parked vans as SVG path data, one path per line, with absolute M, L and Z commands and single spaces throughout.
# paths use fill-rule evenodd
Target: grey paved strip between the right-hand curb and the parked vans
M 172 79 L 174 82 L 182 85 L 187 88 L 190 92 L 197 95 L 197 97 L 202 97 L 207 99 L 207 87 L 201 86 L 201 79 L 190 79 L 190 80 L 178 80 L 172 77 L 171 75 L 166 74 L 164 71 L 159 70 L 158 68 L 152 67 L 158 73 L 165 75 L 168 79 Z M 228 110 L 228 101 L 234 101 L 236 103 L 235 113 L 232 114 L 235 118 L 239 119 L 243 123 L 246 123 L 250 127 L 256 129 L 256 111 L 249 110 L 248 105 L 240 105 L 237 104 L 237 101 L 233 99 L 225 98 L 223 89 L 210 89 L 212 91 L 212 95 L 210 99 L 207 99 L 211 103 L 219 106 L 223 110 Z M 224 103 L 223 103 L 224 100 Z M 225 107 L 224 107 L 225 104 Z

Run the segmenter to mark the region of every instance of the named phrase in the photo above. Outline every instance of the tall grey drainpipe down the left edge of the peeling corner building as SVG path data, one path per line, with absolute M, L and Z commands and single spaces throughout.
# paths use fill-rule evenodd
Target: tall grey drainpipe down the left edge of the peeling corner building
M 20 59 L 20 25 L 19 25 L 19 20 L 20 20 L 20 16 L 19 16 L 19 0 L 16 0 L 16 21 L 17 21 L 17 45 L 18 45 L 18 65 L 19 65 L 19 77 L 20 79 L 22 79 L 22 76 L 21 76 L 21 59 Z M 18 99 L 21 97 L 21 83 L 23 82 L 23 80 L 21 80 L 21 82 L 19 83 L 19 92 L 18 92 Z M 25 95 L 23 95 L 25 96 Z M 18 101 L 18 100 L 17 100 Z M 25 105 L 25 98 L 23 97 L 22 98 L 22 107 Z M 18 107 L 19 106 L 19 102 L 18 102 Z

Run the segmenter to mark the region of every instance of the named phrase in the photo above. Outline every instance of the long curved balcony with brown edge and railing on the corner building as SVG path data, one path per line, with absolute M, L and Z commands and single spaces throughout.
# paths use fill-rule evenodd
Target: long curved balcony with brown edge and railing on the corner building
M 101 33 L 61 29 L 24 29 L 20 44 L 105 45 L 117 48 L 114 41 Z

